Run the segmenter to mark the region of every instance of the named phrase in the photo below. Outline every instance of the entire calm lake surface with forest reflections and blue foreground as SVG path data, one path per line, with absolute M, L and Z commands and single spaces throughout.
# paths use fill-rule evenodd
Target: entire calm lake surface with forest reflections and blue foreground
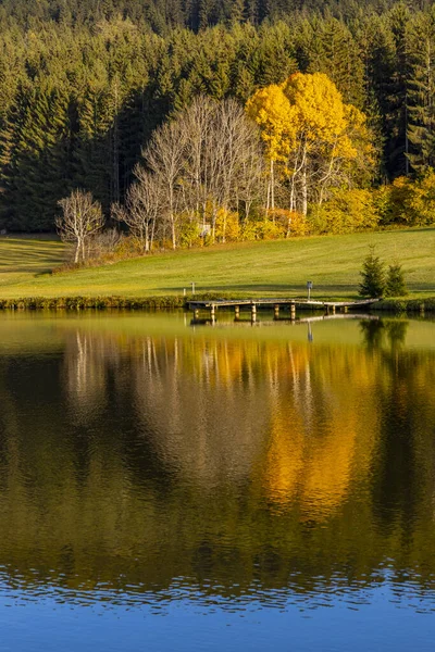
M 432 651 L 435 323 L 0 315 L 0 631 Z

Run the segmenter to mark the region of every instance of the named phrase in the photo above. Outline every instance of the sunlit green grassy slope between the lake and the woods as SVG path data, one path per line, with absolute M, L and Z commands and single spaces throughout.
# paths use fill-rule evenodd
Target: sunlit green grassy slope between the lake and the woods
M 435 297 L 435 228 L 424 228 L 216 246 L 58 274 L 60 242 L 1 238 L 0 305 L 176 306 L 191 281 L 212 297 L 301 297 L 308 279 L 313 298 L 353 299 L 371 243 L 403 264 L 411 301 Z

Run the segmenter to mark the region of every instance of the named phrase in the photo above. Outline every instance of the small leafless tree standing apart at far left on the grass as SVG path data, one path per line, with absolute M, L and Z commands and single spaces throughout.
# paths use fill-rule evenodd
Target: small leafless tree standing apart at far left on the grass
M 87 240 L 104 225 L 101 204 L 90 192 L 78 189 L 58 203 L 62 209 L 62 216 L 55 221 L 58 233 L 62 241 L 75 242 L 74 261 L 78 263 L 86 260 Z

